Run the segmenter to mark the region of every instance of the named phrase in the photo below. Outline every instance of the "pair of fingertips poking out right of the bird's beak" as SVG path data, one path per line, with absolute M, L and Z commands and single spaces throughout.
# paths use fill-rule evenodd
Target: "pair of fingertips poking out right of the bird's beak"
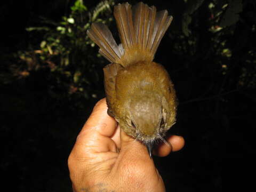
M 169 155 L 171 151 L 178 151 L 185 145 L 184 138 L 178 135 L 171 135 L 167 138 L 167 141 L 170 143 L 170 146 L 165 143 L 159 144 L 154 150 L 154 155 L 165 157 Z

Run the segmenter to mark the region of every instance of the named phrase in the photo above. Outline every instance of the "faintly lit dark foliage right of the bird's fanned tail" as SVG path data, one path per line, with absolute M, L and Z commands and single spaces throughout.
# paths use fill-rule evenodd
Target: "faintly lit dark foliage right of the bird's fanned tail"
M 245 43 L 246 36 L 249 38 L 255 36 L 255 21 L 251 22 L 255 13 L 242 14 L 245 4 L 255 6 L 255 2 L 247 2 L 244 5 L 242 0 L 185 2 L 186 8 L 181 19 L 183 35 L 179 31 L 171 34 L 174 42 L 173 52 L 186 55 L 186 63 L 191 68 L 195 63 L 205 62 L 202 70 L 209 68 L 215 73 L 212 77 L 218 78 L 212 81 L 219 89 L 215 93 L 219 94 L 224 90 L 229 92 L 247 88 L 255 89 L 256 50 L 253 42 Z M 208 15 L 208 18 L 200 17 L 200 14 L 204 17 Z M 242 26 L 246 26 L 246 29 L 242 29 L 244 34 L 240 35 Z M 236 72 L 239 70 L 236 79 L 233 78 L 235 70 Z M 224 89 L 225 85 L 229 87 Z

